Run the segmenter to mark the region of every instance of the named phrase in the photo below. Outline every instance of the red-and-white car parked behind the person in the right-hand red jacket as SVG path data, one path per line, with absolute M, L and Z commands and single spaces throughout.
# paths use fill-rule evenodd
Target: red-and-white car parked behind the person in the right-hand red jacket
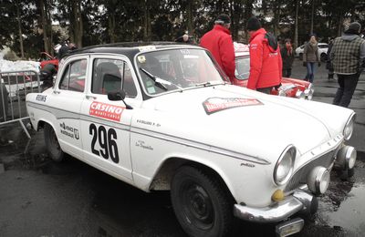
M 250 75 L 250 54 L 248 46 L 235 42 L 235 85 L 247 87 Z M 280 88 L 273 88 L 272 95 L 284 96 L 289 98 L 313 98 L 313 84 L 295 78 L 283 77 Z

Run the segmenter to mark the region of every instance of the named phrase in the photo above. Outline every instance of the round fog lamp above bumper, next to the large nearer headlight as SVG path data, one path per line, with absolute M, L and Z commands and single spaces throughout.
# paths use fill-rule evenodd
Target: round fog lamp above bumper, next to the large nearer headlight
M 327 191 L 329 185 L 329 171 L 321 166 L 310 171 L 307 177 L 308 189 L 314 194 L 319 195 Z

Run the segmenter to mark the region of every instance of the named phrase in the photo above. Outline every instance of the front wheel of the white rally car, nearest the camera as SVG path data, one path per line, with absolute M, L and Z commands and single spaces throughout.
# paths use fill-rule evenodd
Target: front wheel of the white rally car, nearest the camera
M 217 177 L 184 166 L 172 178 L 172 207 L 190 236 L 226 235 L 233 224 L 233 201 Z

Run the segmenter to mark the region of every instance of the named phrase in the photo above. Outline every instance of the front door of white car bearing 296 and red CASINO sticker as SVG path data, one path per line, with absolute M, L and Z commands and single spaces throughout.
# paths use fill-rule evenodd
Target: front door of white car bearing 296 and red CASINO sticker
M 90 57 L 87 94 L 81 107 L 84 158 L 111 175 L 132 181 L 130 160 L 130 121 L 141 105 L 141 91 L 127 57 Z M 108 92 L 123 88 L 123 101 L 111 101 Z

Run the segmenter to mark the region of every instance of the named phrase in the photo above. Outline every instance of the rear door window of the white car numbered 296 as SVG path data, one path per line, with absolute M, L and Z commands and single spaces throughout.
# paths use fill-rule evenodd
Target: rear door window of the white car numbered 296
M 73 61 L 68 64 L 61 77 L 59 88 L 79 92 L 84 91 L 87 66 L 87 59 Z

